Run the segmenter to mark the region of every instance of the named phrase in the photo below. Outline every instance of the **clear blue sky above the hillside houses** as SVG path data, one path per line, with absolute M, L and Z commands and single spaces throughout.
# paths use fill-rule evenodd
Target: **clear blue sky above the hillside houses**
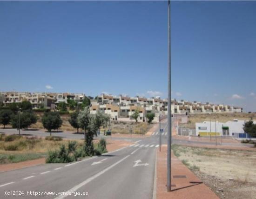
M 256 2 L 172 1 L 172 97 L 256 111 Z M 0 91 L 167 96 L 167 1 L 1 1 Z

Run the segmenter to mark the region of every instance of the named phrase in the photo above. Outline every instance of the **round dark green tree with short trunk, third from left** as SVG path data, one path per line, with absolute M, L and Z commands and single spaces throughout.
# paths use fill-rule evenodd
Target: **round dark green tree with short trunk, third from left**
M 52 136 L 52 130 L 58 129 L 62 125 L 62 119 L 58 112 L 46 112 L 42 117 L 42 123 L 44 128 L 50 132 Z

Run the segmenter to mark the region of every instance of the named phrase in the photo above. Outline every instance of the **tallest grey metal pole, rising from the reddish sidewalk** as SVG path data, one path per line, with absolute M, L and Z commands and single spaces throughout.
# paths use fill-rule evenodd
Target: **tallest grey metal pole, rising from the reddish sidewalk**
M 167 191 L 172 188 L 171 147 L 172 147 L 172 111 L 171 111 L 171 1 L 168 0 L 168 141 L 167 141 Z

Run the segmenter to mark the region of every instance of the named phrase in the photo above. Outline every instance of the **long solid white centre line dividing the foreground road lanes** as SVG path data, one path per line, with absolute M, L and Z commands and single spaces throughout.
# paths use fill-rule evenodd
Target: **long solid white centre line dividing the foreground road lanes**
M 69 189 L 67 192 L 75 192 L 76 190 L 78 190 L 79 188 L 81 188 L 82 186 L 85 186 L 86 184 L 88 184 L 90 181 L 94 180 L 95 178 L 99 177 L 100 175 L 102 175 L 103 173 L 107 172 L 108 170 L 110 170 L 111 168 L 113 168 L 114 166 L 118 165 L 120 162 L 122 162 L 123 160 L 127 159 L 130 155 L 125 156 L 124 158 L 120 159 L 119 161 L 117 161 L 116 163 L 114 163 L 111 166 L 108 166 L 106 169 L 103 169 L 101 172 L 96 173 L 95 175 L 93 175 L 92 177 L 86 179 L 85 181 L 81 182 L 80 184 L 74 186 L 73 188 Z M 59 195 L 58 197 L 56 197 L 55 199 L 64 199 L 66 198 L 68 195 Z

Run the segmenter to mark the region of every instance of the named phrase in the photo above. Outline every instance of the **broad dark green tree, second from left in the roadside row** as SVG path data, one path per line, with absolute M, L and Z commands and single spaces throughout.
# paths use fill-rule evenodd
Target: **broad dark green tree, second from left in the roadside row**
M 35 124 L 37 122 L 37 116 L 32 111 L 24 111 L 22 113 L 13 115 L 11 119 L 11 125 L 13 128 L 19 129 L 27 129 L 30 125 Z

